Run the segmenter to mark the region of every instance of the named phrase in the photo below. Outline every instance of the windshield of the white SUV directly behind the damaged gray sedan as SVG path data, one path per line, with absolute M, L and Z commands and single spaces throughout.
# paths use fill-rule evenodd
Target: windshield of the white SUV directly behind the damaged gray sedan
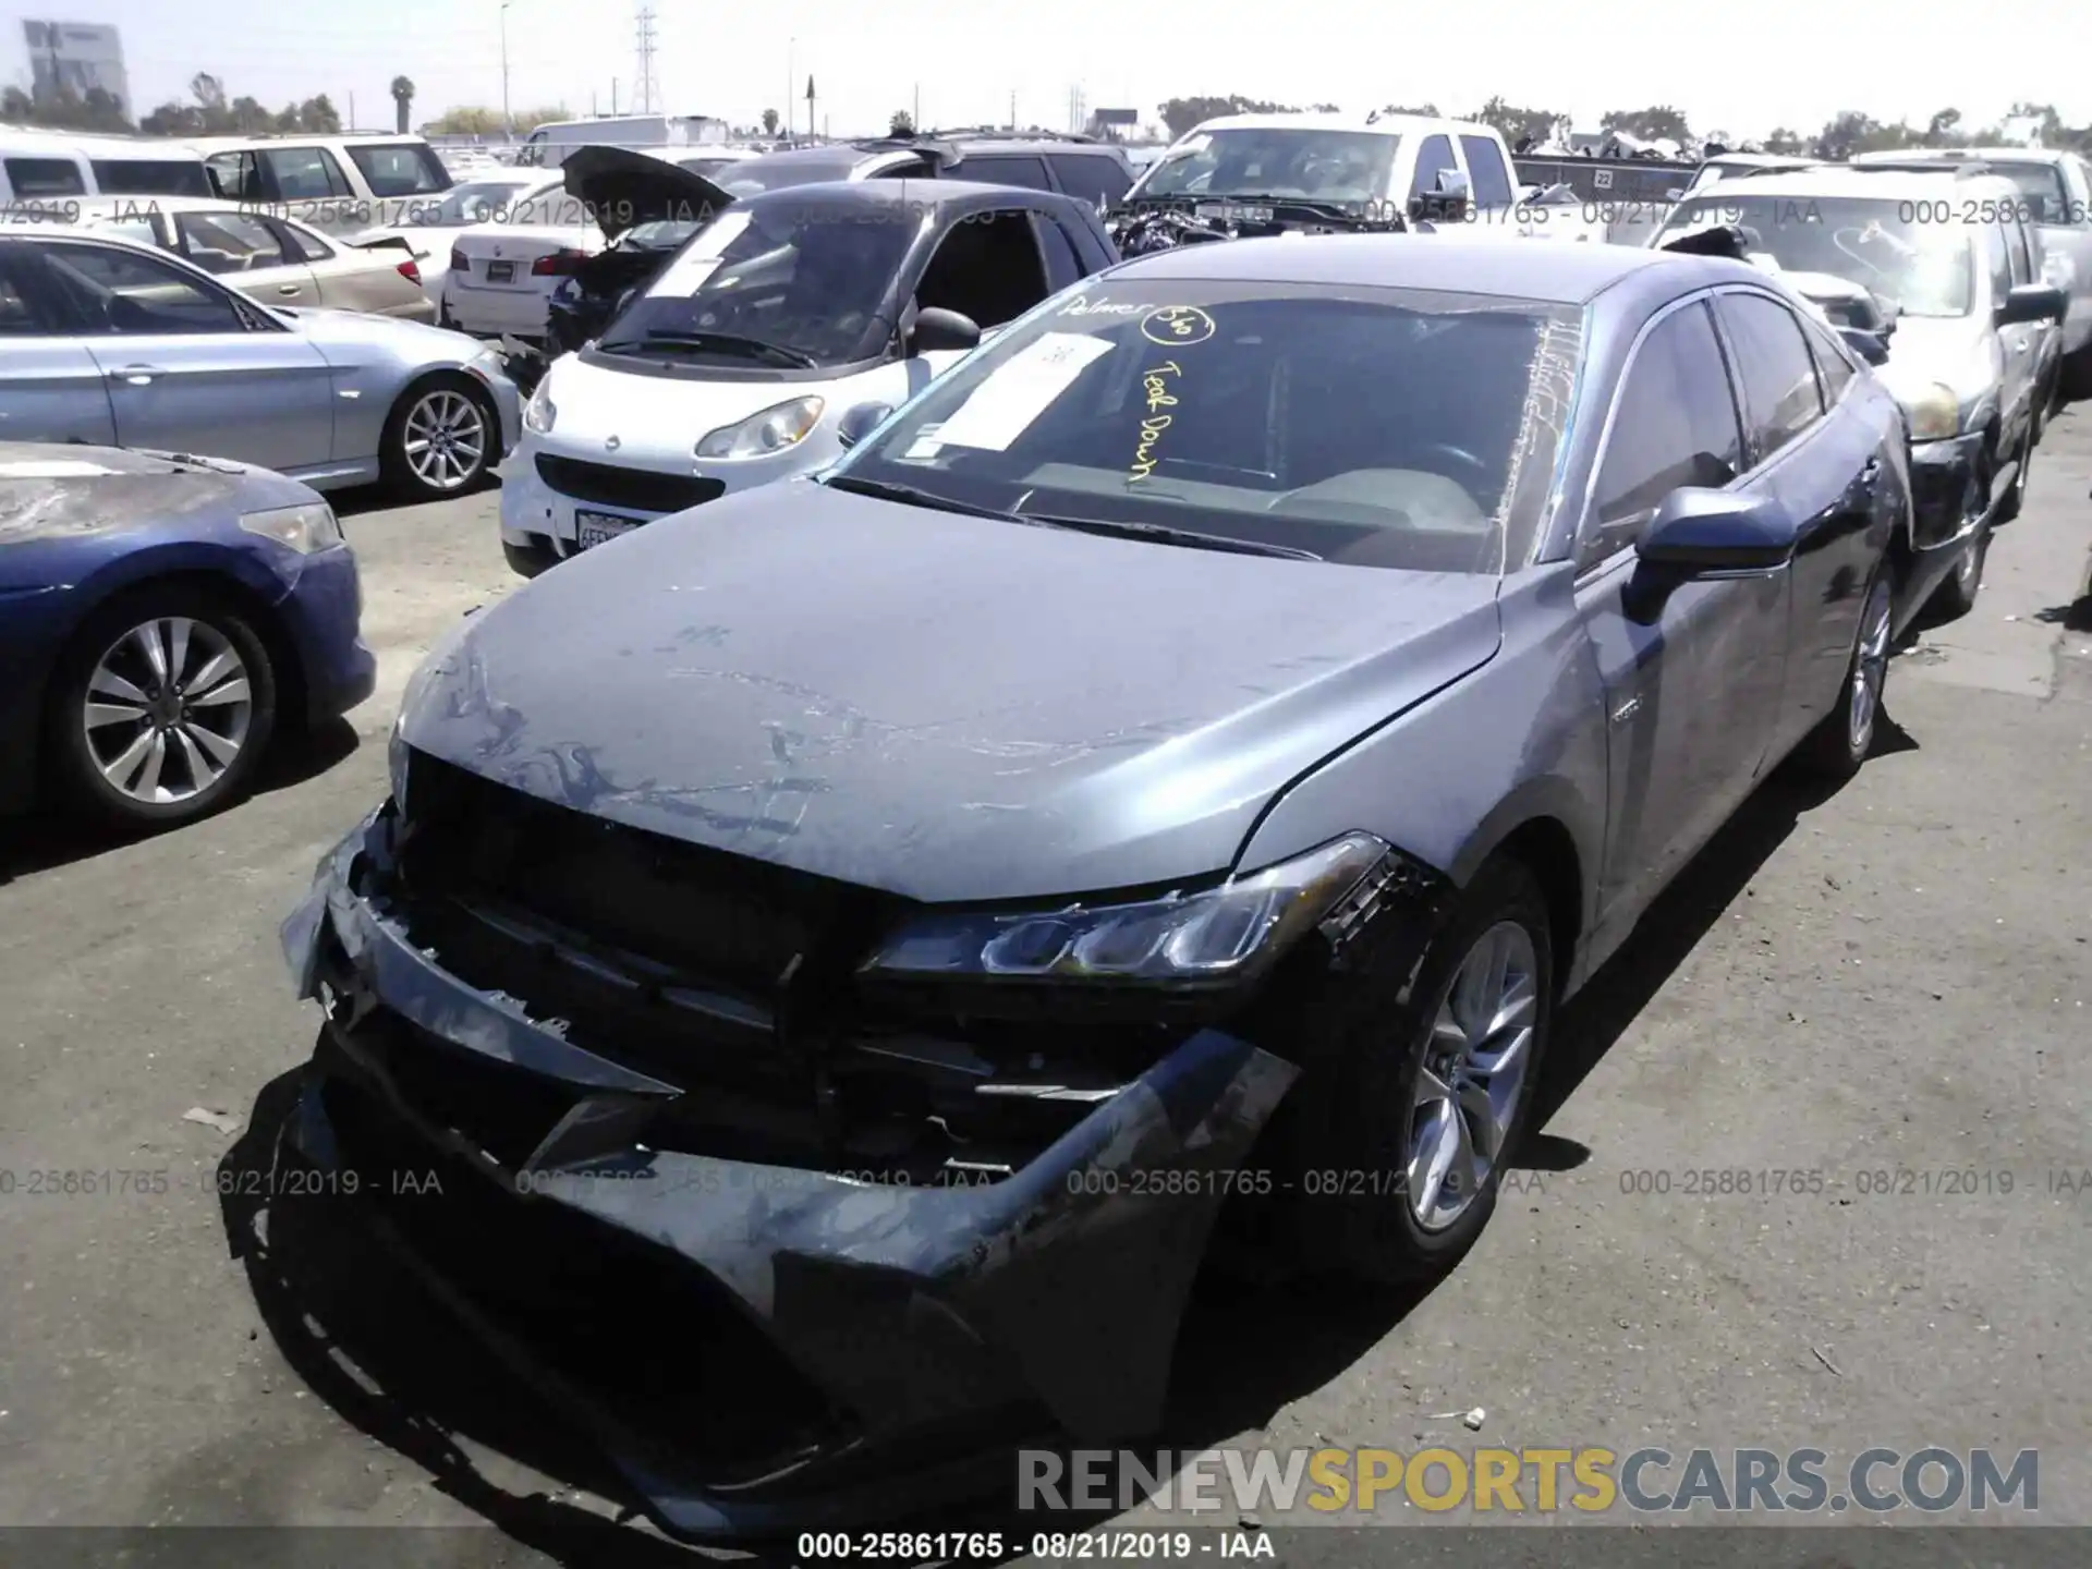
M 1948 222 L 1948 201 L 1745 192 L 1682 203 L 1657 245 L 1695 228 L 1734 224 L 1753 255 L 1782 272 L 1826 272 L 1887 299 L 1904 316 L 1966 316 L 1973 305 L 1971 228 Z M 1935 211 L 1937 209 L 1937 211 Z M 1927 222 L 1927 220 L 1939 222 Z

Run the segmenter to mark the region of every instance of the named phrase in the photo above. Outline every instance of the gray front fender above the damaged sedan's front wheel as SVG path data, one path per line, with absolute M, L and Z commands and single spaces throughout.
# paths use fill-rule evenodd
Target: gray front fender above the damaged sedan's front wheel
M 1364 828 L 1464 885 L 1523 824 L 1552 818 L 1588 868 L 1577 925 L 1592 931 L 1605 686 L 1573 577 L 1571 563 L 1556 563 L 1504 579 L 1496 657 L 1297 780 L 1251 831 L 1241 864 L 1268 866 Z M 1582 979 L 1567 954 L 1559 969 L 1571 985 Z

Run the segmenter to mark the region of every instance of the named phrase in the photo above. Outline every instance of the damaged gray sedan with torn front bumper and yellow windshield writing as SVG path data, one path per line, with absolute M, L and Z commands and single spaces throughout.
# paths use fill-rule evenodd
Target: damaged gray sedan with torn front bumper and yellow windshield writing
M 1448 1268 L 1561 1000 L 1858 768 L 1927 592 L 1893 400 L 1738 262 L 1186 247 L 879 416 L 460 623 L 285 925 L 287 1159 L 444 1172 L 364 1209 L 684 1536 L 1153 1431 L 1230 1203 Z

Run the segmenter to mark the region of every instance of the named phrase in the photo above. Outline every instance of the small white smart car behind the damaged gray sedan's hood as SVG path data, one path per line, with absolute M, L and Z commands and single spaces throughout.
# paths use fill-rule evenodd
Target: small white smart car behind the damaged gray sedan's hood
M 1094 207 L 1052 190 L 858 180 L 747 197 L 546 370 L 502 469 L 502 548 L 531 575 L 820 469 L 983 335 L 1115 259 Z M 1025 412 L 969 404 L 967 418 L 992 439 Z

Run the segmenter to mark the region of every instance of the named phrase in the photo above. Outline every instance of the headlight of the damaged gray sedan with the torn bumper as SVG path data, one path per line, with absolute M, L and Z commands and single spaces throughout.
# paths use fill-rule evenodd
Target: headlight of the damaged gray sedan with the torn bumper
M 1312 929 L 1389 856 L 1354 833 L 1201 893 L 1027 912 L 935 912 L 864 973 L 893 979 L 1236 981 Z

